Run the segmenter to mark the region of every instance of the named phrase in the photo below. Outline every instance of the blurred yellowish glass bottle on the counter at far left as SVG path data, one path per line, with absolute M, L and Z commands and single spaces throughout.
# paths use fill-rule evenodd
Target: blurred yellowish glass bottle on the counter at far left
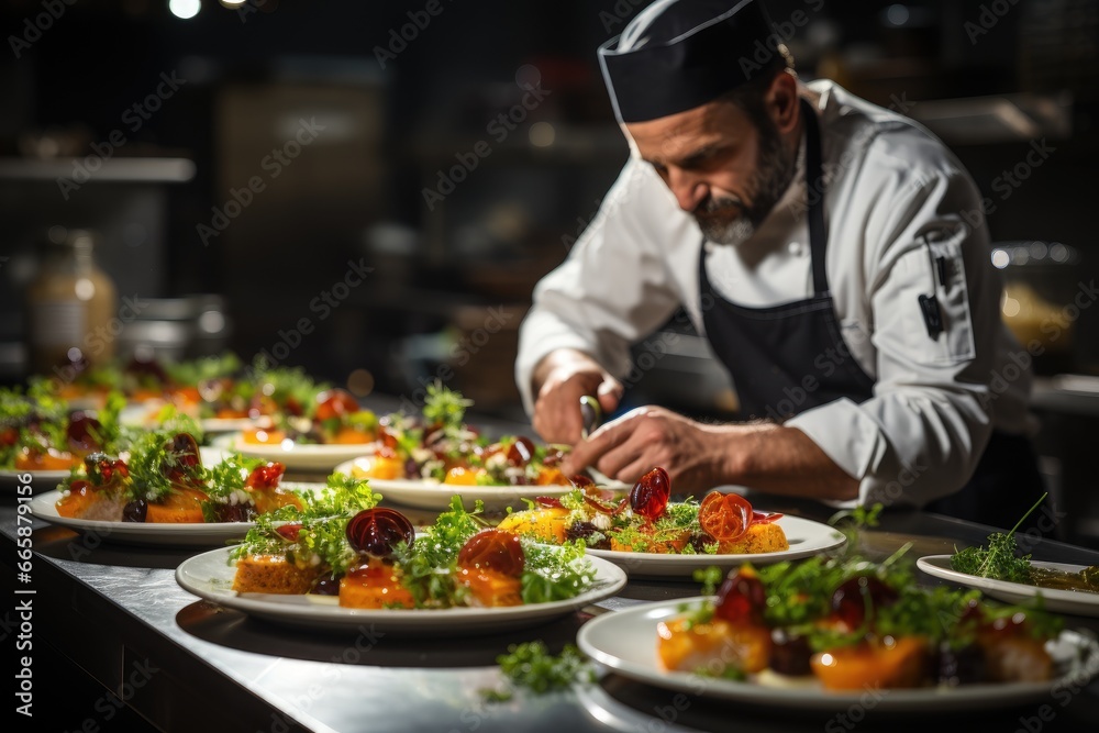
M 118 292 L 95 260 L 95 238 L 85 230 L 55 227 L 42 243 L 38 273 L 26 289 L 26 348 L 32 374 L 71 377 L 109 364 L 122 323 Z

